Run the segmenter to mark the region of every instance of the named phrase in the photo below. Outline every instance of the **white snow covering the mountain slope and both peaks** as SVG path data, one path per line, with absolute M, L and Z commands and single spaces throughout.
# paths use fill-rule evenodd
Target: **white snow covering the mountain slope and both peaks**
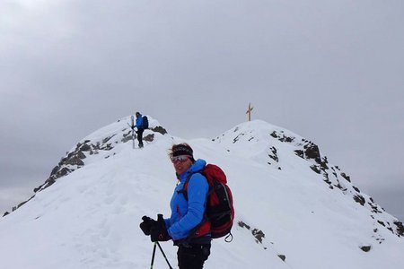
M 160 126 L 148 117 L 152 128 Z M 133 149 L 131 140 L 122 142 L 129 122 L 124 117 L 85 137 L 81 143 L 113 135 L 112 149 L 85 153 L 85 165 L 0 218 L 1 268 L 149 268 L 153 243 L 138 225 L 143 215 L 170 214 L 177 179 L 167 152 L 180 142 L 224 169 L 233 191 L 233 241 L 215 239 L 204 268 L 404 268 L 398 220 L 358 193 L 338 167 L 311 169 L 318 163 L 295 152 L 307 143 L 300 135 L 255 120 L 213 140 L 146 130 L 154 140 Z M 358 194 L 364 205 L 354 200 Z M 256 231 L 265 234 L 261 242 Z M 161 245 L 177 268 L 177 247 Z M 158 249 L 154 268 L 168 268 Z

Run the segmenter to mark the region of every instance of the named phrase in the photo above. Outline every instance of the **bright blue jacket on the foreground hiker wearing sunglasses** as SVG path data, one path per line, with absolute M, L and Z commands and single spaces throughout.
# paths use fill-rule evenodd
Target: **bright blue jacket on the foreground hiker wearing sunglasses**
M 207 180 L 200 173 L 193 174 L 204 169 L 206 161 L 198 159 L 179 177 L 180 184 L 175 187 L 171 197 L 171 217 L 165 220 L 169 235 L 173 240 L 185 239 L 189 232 L 195 228 L 204 217 L 206 197 L 209 190 Z M 192 176 L 189 178 L 189 175 Z M 187 187 L 188 201 L 182 193 L 184 183 L 189 178 Z

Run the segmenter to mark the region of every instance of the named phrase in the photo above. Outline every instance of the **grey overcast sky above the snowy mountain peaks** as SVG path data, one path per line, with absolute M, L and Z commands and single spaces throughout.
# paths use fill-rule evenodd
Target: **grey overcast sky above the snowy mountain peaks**
M 401 0 L 0 0 L 0 212 L 120 117 L 213 138 L 251 102 L 404 221 L 403 101 Z

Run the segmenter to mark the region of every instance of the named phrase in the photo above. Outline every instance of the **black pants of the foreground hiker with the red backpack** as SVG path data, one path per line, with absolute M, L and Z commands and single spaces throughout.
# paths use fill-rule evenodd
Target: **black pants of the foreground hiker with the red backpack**
M 210 244 L 180 245 L 177 252 L 180 269 L 202 269 L 210 255 Z

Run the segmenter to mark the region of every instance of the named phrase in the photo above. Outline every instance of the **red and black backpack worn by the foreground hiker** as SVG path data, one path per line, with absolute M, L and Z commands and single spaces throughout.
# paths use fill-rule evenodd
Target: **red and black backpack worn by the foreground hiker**
M 197 173 L 206 177 L 209 191 L 207 194 L 204 220 L 197 226 L 191 237 L 198 237 L 205 234 L 209 226 L 208 222 L 210 222 L 210 230 L 207 231 L 210 231 L 212 239 L 218 239 L 227 234 L 231 236 L 234 220 L 233 195 L 232 191 L 227 186 L 224 171 L 215 164 L 207 164 L 205 169 Z M 184 188 L 180 191 L 187 201 L 189 178 L 187 178 L 184 183 Z

